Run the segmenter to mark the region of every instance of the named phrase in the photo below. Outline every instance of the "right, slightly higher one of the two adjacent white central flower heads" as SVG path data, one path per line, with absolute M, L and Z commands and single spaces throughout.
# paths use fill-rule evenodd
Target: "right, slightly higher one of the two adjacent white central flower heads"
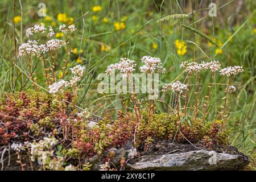
M 142 73 L 164 73 L 166 69 L 163 68 L 162 62 L 158 57 L 143 56 L 141 59 L 143 65 L 139 69 Z

